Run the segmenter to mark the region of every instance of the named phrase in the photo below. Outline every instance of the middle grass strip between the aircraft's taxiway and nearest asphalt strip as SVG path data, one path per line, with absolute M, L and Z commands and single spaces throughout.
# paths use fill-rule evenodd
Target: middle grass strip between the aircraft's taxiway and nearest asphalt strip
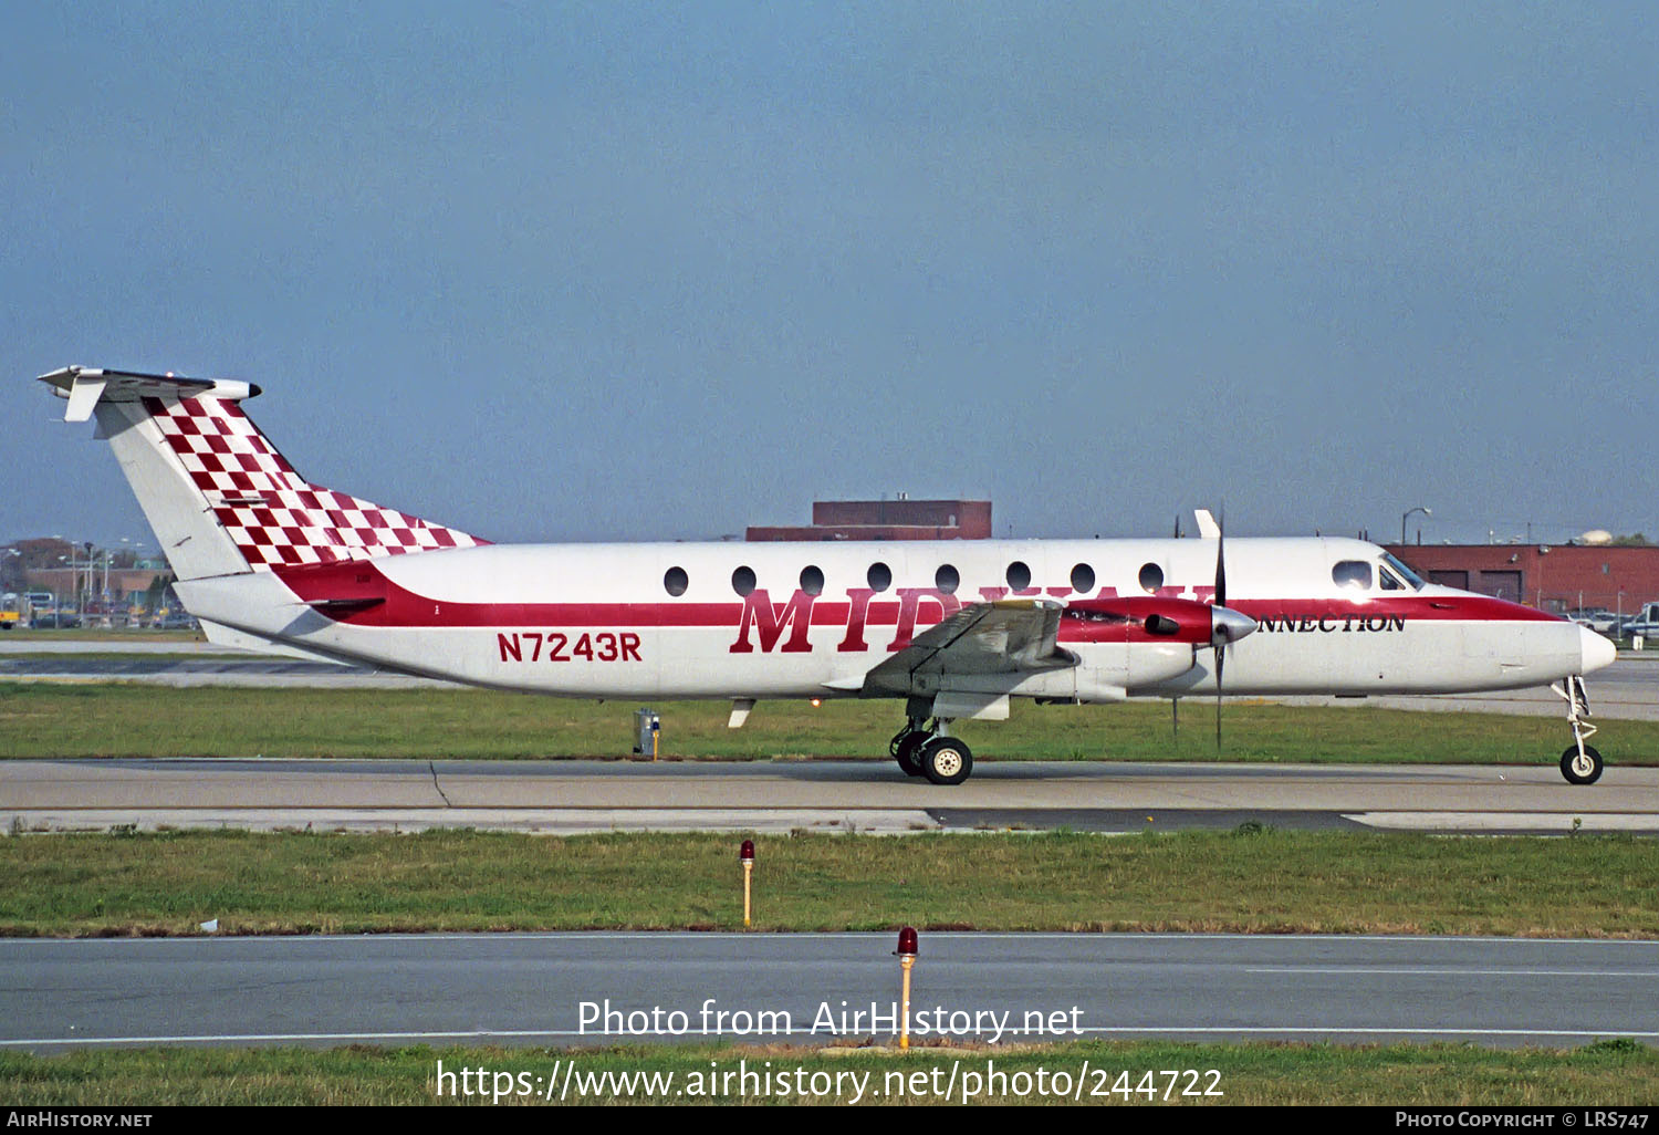
M 1659 841 L 1180 831 L 760 838 L 760 931 L 1659 938 Z M 0 934 L 738 929 L 737 838 L 0 840 Z M 526 884 L 534 879 L 534 884 Z

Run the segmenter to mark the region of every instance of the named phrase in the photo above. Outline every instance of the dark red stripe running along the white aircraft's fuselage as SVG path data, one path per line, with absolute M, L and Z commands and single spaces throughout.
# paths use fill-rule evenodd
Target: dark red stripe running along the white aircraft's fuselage
M 355 614 L 342 614 L 335 621 L 357 627 L 720 627 L 737 631 L 743 619 L 743 601 L 732 602 L 687 602 L 684 599 L 662 599 L 659 602 L 455 602 L 431 599 L 387 579 L 373 561 L 342 561 L 330 564 L 272 564 L 272 572 L 304 602 L 337 602 L 342 609 L 347 604 L 362 601 L 378 601 L 372 607 Z M 939 622 L 951 611 L 972 602 L 979 602 L 959 592 L 961 602 L 941 601 L 932 596 L 921 596 L 916 609 L 916 627 L 922 629 Z M 781 609 L 788 599 L 773 599 Z M 1063 602 L 1063 601 L 1062 601 Z M 1078 597 L 1077 607 L 1113 609 L 1133 606 L 1131 614 L 1143 621 L 1148 612 L 1161 609 L 1155 597 L 1135 596 L 1118 597 L 1110 591 L 1098 596 Z M 811 607 L 811 624 L 815 627 L 844 627 L 851 614 L 851 602 L 834 599 L 816 599 Z M 864 624 L 873 627 L 893 627 L 901 622 L 902 602 L 899 599 L 871 601 L 864 612 Z M 1173 641 L 1208 641 L 1209 629 L 1198 634 L 1191 622 L 1194 601 L 1175 601 L 1168 604 L 1170 614 L 1183 622 L 1183 632 Z M 1321 629 L 1321 621 L 1345 619 L 1407 619 L 1410 622 L 1559 622 L 1556 616 L 1533 607 L 1523 607 L 1505 599 L 1488 596 L 1379 596 L 1375 599 L 1239 599 L 1228 604 L 1234 611 L 1251 616 L 1258 622 L 1272 621 L 1276 629 L 1286 621 L 1294 621 L 1297 629 Z M 1329 624 L 1329 622 L 1327 622 Z M 1292 629 L 1292 627 L 1284 627 Z M 1105 627 L 1078 619 L 1060 621 L 1060 642 L 1121 642 L 1125 634 L 1131 642 L 1170 642 L 1168 636 L 1146 634 L 1138 622 L 1121 626 L 1115 634 Z

